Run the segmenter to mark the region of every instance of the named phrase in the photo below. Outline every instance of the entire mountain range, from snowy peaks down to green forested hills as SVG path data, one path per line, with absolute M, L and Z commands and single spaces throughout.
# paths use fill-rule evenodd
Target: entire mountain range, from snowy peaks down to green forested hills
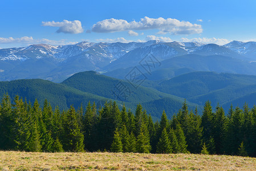
M 186 99 L 202 111 L 256 99 L 256 42 L 219 46 L 196 42 L 36 44 L 0 50 L 0 96 L 44 99 L 67 109 L 88 101 L 117 101 L 133 111 L 141 103 L 154 120 L 170 118 Z

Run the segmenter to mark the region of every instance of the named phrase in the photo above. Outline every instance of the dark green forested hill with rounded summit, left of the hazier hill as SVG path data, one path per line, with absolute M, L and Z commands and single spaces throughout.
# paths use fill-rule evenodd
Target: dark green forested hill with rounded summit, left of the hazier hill
M 125 96 L 118 89 L 120 85 L 128 88 Z M 0 82 L 0 96 L 5 93 L 8 93 L 12 100 L 15 95 L 19 95 L 27 101 L 38 99 L 41 105 L 43 105 L 44 99 L 47 99 L 52 107 L 58 105 L 60 109 L 67 109 L 71 104 L 78 109 L 81 104 L 86 105 L 88 101 L 95 101 L 96 104 L 99 103 L 102 106 L 105 101 L 115 100 L 119 106 L 125 103 L 128 108 L 135 111 L 136 105 L 141 103 L 147 107 L 153 120 L 160 119 L 165 106 L 168 118 L 170 118 L 173 113 L 178 112 L 184 101 L 182 97 L 149 87 L 138 86 L 135 88 L 131 83 L 99 75 L 94 71 L 80 72 L 61 84 L 41 79 Z M 188 105 L 189 109 L 194 109 L 197 106 L 190 102 Z M 198 109 L 201 107 L 198 106 Z

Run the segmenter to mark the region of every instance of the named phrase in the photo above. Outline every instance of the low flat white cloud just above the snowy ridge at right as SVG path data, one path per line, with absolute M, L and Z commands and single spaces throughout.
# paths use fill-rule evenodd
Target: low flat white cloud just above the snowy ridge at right
M 193 38 L 193 39 L 181 38 L 181 42 L 215 43 L 215 44 L 223 45 L 223 44 L 229 43 L 230 41 L 227 39 L 220 39 L 220 38 Z

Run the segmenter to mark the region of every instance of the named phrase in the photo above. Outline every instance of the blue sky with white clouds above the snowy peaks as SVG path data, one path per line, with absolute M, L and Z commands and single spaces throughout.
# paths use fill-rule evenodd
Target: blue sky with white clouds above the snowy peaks
M 29 44 L 256 41 L 256 1 L 0 2 L 0 48 Z

